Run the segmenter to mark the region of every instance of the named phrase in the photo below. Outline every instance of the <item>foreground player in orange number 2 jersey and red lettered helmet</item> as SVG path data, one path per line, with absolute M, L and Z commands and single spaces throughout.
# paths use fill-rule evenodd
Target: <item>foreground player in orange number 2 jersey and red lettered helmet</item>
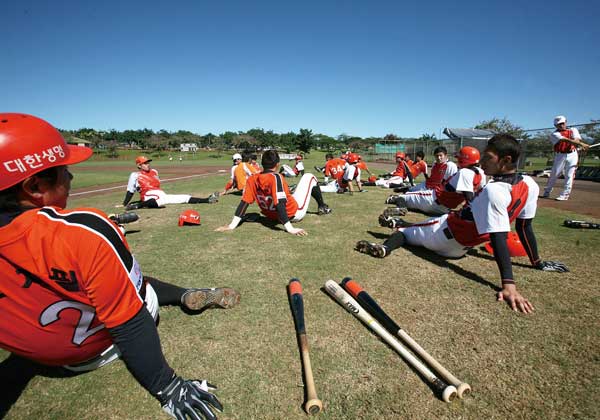
M 172 417 L 215 418 L 222 405 L 211 385 L 174 373 L 155 320 L 159 305 L 229 308 L 239 294 L 146 277 L 104 213 L 65 210 L 73 178 L 66 165 L 88 159 L 91 149 L 67 145 L 46 121 L 25 114 L 0 114 L 0 138 L 0 347 L 12 353 L 7 360 L 64 375 L 120 357 Z M 28 374 L 25 384 L 35 375 Z M 1 381 L 3 406 L 18 397 L 12 385 Z

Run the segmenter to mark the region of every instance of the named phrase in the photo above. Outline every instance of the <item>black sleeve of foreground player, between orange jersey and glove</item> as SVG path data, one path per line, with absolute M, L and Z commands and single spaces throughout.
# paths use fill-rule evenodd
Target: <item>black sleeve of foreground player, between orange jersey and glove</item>
M 133 377 L 150 394 L 156 394 L 171 381 L 173 369 L 167 364 L 160 347 L 154 320 L 146 307 L 126 323 L 108 332 L 121 351 L 121 359 Z

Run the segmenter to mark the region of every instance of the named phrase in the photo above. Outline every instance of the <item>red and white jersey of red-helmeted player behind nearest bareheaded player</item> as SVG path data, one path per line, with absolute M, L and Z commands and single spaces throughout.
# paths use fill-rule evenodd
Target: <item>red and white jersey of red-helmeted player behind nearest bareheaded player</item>
M 443 188 L 435 189 L 438 204 L 454 209 L 465 201 L 465 192 L 476 193 L 485 186 L 485 174 L 481 168 L 461 168 L 452 175 Z

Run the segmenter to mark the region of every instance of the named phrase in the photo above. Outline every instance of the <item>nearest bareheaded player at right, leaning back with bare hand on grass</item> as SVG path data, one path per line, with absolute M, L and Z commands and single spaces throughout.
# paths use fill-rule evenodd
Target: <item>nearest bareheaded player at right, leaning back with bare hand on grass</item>
M 486 174 L 493 177 L 473 201 L 460 211 L 400 228 L 383 245 L 359 241 L 356 249 L 376 257 L 385 257 L 404 244 L 423 246 L 443 257 L 460 258 L 476 245 L 488 240 L 500 269 L 502 289 L 498 300 L 506 301 L 515 311 L 531 313 L 533 305 L 517 291 L 507 245 L 510 224 L 516 231 L 531 265 L 543 271 L 568 271 L 559 262 L 542 261 L 531 222 L 535 217 L 539 187 L 526 175 L 516 173 L 519 143 L 510 135 L 490 139 L 481 159 Z

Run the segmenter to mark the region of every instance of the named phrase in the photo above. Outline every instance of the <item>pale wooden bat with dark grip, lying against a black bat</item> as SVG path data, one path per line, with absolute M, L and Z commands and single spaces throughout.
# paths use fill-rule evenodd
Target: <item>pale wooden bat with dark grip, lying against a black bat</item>
M 342 304 L 352 315 L 360 319 L 365 325 L 388 343 L 406 362 L 419 372 L 431 386 L 438 392 L 445 402 L 450 402 L 456 396 L 456 388 L 448 385 L 438 378 L 427 366 L 417 359 L 404 347 L 392 334 L 386 331 L 369 313 L 356 302 L 340 285 L 333 280 L 327 280 L 325 290 L 335 300 Z

